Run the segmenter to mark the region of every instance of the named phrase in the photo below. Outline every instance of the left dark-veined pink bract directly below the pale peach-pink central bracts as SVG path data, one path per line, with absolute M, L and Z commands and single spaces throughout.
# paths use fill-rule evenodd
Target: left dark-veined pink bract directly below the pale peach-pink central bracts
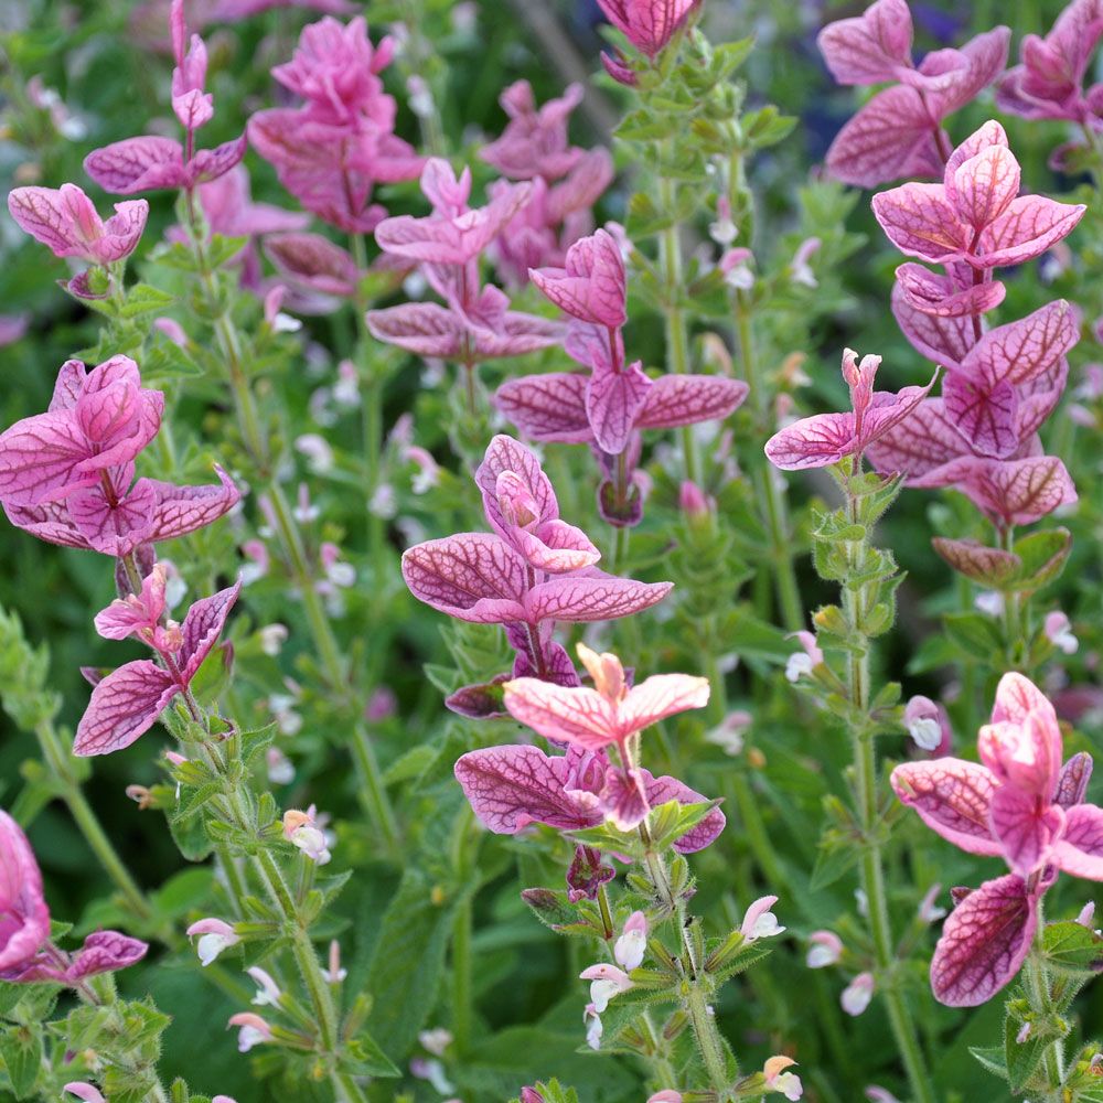
M 531 746 L 469 751 L 456 763 L 456 780 L 480 822 L 496 835 L 515 835 L 531 823 L 559 831 L 601 823 L 598 799 L 565 785 L 567 759 Z

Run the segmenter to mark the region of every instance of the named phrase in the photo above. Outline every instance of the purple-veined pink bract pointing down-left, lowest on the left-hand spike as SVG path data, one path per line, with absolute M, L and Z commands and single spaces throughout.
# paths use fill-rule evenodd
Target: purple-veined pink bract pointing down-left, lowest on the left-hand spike
M 82 757 L 109 754 L 148 731 L 180 692 L 170 675 L 148 658 L 113 671 L 92 690 L 73 741 Z

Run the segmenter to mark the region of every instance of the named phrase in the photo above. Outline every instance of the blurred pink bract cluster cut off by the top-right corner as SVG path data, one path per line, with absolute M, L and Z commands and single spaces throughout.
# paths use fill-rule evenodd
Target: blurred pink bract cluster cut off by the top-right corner
M 1022 39 L 1022 64 L 999 82 L 996 105 L 1028 119 L 1065 119 L 1099 128 L 1101 86 L 1085 89 L 1084 75 L 1101 36 L 1099 0 L 1072 0 L 1045 39 Z

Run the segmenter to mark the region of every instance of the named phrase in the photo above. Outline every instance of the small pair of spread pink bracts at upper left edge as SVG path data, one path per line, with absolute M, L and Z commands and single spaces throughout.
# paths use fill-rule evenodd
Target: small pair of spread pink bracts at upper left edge
M 109 265 L 130 256 L 149 215 L 144 200 L 130 200 L 116 203 L 115 214 L 104 222 L 76 184 L 15 188 L 8 195 L 8 210 L 20 228 L 54 256 L 79 257 L 93 265 Z

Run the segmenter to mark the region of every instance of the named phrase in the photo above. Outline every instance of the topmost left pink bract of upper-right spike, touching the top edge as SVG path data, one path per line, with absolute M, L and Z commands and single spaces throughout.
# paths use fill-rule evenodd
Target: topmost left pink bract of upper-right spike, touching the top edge
M 910 68 L 911 35 L 904 0 L 877 0 L 863 15 L 828 23 L 816 45 L 838 84 L 881 84 Z

